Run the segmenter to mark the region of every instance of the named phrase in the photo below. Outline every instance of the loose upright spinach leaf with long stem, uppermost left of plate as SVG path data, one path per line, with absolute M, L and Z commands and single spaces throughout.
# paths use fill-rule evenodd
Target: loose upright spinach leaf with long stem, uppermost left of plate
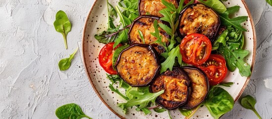
M 55 30 L 62 34 L 64 38 L 65 49 L 67 49 L 67 34 L 71 31 L 71 23 L 64 11 L 59 10 L 56 12 L 54 21 Z

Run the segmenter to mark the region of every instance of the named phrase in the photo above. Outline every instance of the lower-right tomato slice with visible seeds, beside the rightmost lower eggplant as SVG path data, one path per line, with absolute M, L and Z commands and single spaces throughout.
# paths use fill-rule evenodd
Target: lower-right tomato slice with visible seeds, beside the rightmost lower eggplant
M 210 85 L 221 83 L 227 74 L 226 61 L 220 55 L 212 54 L 205 63 L 198 67 L 206 73 Z

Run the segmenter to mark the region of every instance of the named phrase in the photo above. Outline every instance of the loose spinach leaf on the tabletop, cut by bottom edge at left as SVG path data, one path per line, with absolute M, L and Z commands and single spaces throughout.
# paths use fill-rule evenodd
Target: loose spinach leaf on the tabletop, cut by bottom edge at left
M 81 108 L 74 104 L 66 104 L 56 109 L 55 115 L 58 119 L 81 119 L 81 118 L 88 118 L 92 119 L 88 116 L 86 116 Z

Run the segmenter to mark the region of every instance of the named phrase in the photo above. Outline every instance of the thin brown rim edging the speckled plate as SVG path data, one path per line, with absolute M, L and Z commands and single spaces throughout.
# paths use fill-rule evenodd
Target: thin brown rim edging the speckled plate
M 93 89 L 95 90 L 96 94 L 98 95 L 98 97 L 100 98 L 100 100 L 108 107 L 108 109 L 114 113 L 116 116 L 118 116 L 119 118 L 121 119 L 125 119 L 124 117 L 122 117 L 121 115 L 119 115 L 118 113 L 116 113 L 113 109 L 110 108 L 110 106 L 106 103 L 106 101 L 101 97 L 101 95 L 99 94 L 99 91 L 96 89 L 96 86 L 94 85 L 90 75 L 89 75 L 89 71 L 87 70 L 87 66 L 86 66 L 86 60 L 85 60 L 85 52 L 84 52 L 84 39 L 85 39 L 85 32 L 86 32 L 86 28 L 87 28 L 87 22 L 89 21 L 90 19 L 90 15 L 91 15 L 91 11 L 93 10 L 94 6 L 96 5 L 97 1 L 99 0 L 95 0 L 93 5 L 91 6 L 89 12 L 88 12 L 88 15 L 85 19 L 85 23 L 84 23 L 84 28 L 83 28 L 83 33 L 82 33 L 82 40 L 81 40 L 81 50 L 82 50 L 82 58 L 83 58 L 83 65 L 84 65 L 84 68 L 85 68 L 85 72 L 87 74 L 87 77 L 93 87 Z M 256 56 L 256 31 L 255 31 L 255 26 L 254 26 L 254 21 L 252 19 L 252 15 L 251 15 L 251 12 L 246 4 L 246 1 L 245 0 L 241 0 L 243 5 L 245 6 L 245 9 L 247 11 L 247 14 L 248 14 L 248 17 L 250 18 L 250 24 L 251 24 L 251 28 L 252 28 L 252 32 L 253 32 L 253 56 L 252 56 L 252 63 L 251 63 L 251 75 L 247 77 L 247 80 L 245 82 L 245 84 L 243 85 L 243 88 L 241 89 L 241 91 L 239 92 L 239 94 L 237 95 L 237 97 L 234 99 L 234 103 L 241 97 L 242 93 L 244 92 L 249 80 L 250 80 L 250 77 L 252 76 L 252 72 L 253 72 L 253 68 L 254 68 L 254 64 L 255 64 L 255 56 Z

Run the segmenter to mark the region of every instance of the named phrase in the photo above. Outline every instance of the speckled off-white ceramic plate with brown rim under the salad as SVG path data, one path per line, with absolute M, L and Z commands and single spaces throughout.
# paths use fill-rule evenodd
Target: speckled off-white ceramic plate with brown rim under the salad
M 113 2 L 114 1 L 114 2 Z M 111 3 L 116 4 L 119 0 L 110 0 Z M 229 7 L 233 5 L 241 6 L 240 10 L 235 14 L 235 16 L 249 16 L 248 20 L 242 24 L 242 26 L 248 30 L 245 32 L 245 49 L 250 51 L 250 54 L 245 58 L 253 68 L 254 59 L 255 59 L 255 46 L 256 46 L 256 35 L 255 28 L 253 24 L 253 19 L 250 15 L 250 12 L 246 6 L 244 0 L 228 0 L 224 4 Z M 96 91 L 100 99 L 105 103 L 105 105 L 118 117 L 125 119 L 168 119 L 167 112 L 156 113 L 152 112 L 150 115 L 144 115 L 143 112 L 135 111 L 135 108 L 129 109 L 128 113 L 124 115 L 121 108 L 117 107 L 117 103 L 126 102 L 118 94 L 113 93 L 109 89 L 109 80 L 106 78 L 106 72 L 99 65 L 98 54 L 100 49 L 104 44 L 99 43 L 94 35 L 100 33 L 107 29 L 108 26 L 108 16 L 107 16 L 107 4 L 106 0 L 96 0 L 92 6 L 84 27 L 83 37 L 82 37 L 82 53 L 83 60 L 86 69 L 86 73 L 89 77 L 89 80 Z M 115 20 L 117 22 L 117 20 Z M 233 99 L 236 101 L 242 92 L 244 91 L 250 77 L 241 77 L 238 72 L 238 69 L 234 72 L 229 72 L 227 74 L 225 82 L 234 82 L 231 87 L 223 87 L 227 90 Z M 123 90 L 122 90 L 123 91 Z M 180 112 L 170 111 L 174 119 L 183 118 Z M 204 106 L 198 110 L 193 118 L 212 118 L 208 109 Z M 192 118 L 192 119 L 193 119 Z

